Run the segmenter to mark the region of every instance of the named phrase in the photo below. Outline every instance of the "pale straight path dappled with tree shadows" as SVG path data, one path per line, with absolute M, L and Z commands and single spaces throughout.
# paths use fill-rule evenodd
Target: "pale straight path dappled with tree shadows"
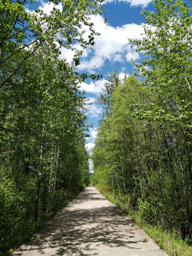
M 166 253 L 90 185 L 12 255 L 166 256 Z

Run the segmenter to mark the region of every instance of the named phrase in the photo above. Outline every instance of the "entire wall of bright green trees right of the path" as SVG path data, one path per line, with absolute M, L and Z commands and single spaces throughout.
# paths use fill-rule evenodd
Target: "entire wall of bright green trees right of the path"
M 144 37 L 129 39 L 146 58 L 122 80 L 111 72 L 97 99 L 92 183 L 191 244 L 191 9 L 184 1 L 154 6 L 142 12 Z

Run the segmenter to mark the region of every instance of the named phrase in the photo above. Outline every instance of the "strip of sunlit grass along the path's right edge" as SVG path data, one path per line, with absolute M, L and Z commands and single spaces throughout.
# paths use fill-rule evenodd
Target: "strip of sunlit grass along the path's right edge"
M 139 225 L 142 230 L 145 231 L 150 238 L 152 238 L 160 247 L 170 256 L 191 256 L 192 248 L 186 241 L 178 238 L 176 234 L 169 233 L 166 230 L 162 230 L 159 226 L 149 225 L 142 220 L 142 215 L 139 211 L 131 210 L 129 203 L 125 204 L 122 201 L 114 198 L 112 190 L 105 186 L 95 185 L 98 191 L 100 191 L 110 202 L 115 206 L 124 210 L 124 213 Z

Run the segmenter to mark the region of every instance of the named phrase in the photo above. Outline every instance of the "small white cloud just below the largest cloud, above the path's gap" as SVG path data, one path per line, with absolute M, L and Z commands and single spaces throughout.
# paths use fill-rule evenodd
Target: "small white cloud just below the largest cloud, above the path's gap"
M 94 93 L 95 95 L 100 95 L 102 93 L 102 89 L 105 88 L 104 84 L 107 82 L 104 78 L 97 80 L 96 82 L 90 81 L 88 85 L 86 82 L 80 83 L 80 90 L 85 90 L 85 92 Z

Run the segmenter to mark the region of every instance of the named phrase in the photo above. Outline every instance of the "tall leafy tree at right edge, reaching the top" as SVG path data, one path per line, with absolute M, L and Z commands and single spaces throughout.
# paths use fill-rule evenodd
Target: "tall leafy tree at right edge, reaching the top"
M 132 114 L 139 119 L 156 123 L 162 137 L 166 159 L 166 184 L 178 221 L 183 223 L 182 233 L 191 233 L 191 8 L 184 1 L 154 1 L 156 13 L 143 11 L 144 38 L 130 40 L 137 51 L 144 51 L 146 60 L 134 63 L 143 85 L 151 93 L 151 100 L 133 105 Z M 181 156 L 182 155 L 182 156 Z M 185 170 L 185 171 L 184 171 Z M 187 198 L 185 202 L 183 198 Z M 184 196 L 185 195 L 185 196 Z M 165 200 L 166 201 L 166 200 Z M 174 213 L 173 213 L 174 214 Z M 186 231 L 188 230 L 188 231 Z

